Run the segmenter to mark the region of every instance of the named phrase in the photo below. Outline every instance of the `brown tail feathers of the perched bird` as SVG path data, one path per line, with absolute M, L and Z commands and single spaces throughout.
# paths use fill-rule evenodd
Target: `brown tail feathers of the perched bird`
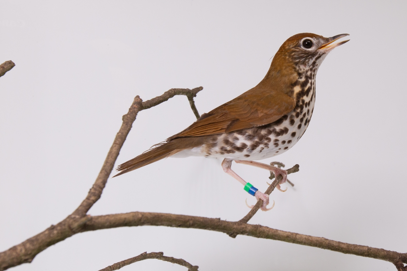
M 178 153 L 182 150 L 192 149 L 193 147 L 201 145 L 202 140 L 203 137 L 176 138 L 174 140 L 171 140 L 170 142 L 164 143 L 119 165 L 116 170 L 120 172 L 113 177 L 122 175 L 137 168 L 141 168 L 142 166 L 147 166 L 148 164 L 174 155 L 175 153 Z

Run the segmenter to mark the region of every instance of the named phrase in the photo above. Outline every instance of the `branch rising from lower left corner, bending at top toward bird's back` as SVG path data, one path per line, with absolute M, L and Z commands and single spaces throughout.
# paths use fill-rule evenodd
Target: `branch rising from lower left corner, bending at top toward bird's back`
M 6 61 L 5 63 L 8 62 L 10 61 Z M 9 63 L 7 65 L 11 64 Z M 136 96 L 129 108 L 128 113 L 122 118 L 123 124 L 116 134 L 116 138 L 114 139 L 113 144 L 107 153 L 101 171 L 99 172 L 99 175 L 96 178 L 92 188 L 89 190 L 86 198 L 72 214 L 66 217 L 66 219 L 63 221 L 59 222 L 57 225 L 52 225 L 44 232 L 41 232 L 25 240 L 19 245 L 1 252 L 0 271 L 20 265 L 22 263 L 31 262 L 38 253 L 47 247 L 65 240 L 66 238 L 79 232 L 81 227 L 83 227 L 83 225 L 90 219 L 90 216 L 86 216 L 86 213 L 102 195 L 107 179 L 109 178 L 110 173 L 112 173 L 113 166 L 119 155 L 120 149 L 123 146 L 123 143 L 125 142 L 139 111 L 159 105 L 175 95 L 186 95 L 188 98 L 194 97 L 202 89 L 203 87 L 197 87 L 193 90 L 171 89 L 165 92 L 163 95 L 145 102 L 143 102 L 139 96 Z

